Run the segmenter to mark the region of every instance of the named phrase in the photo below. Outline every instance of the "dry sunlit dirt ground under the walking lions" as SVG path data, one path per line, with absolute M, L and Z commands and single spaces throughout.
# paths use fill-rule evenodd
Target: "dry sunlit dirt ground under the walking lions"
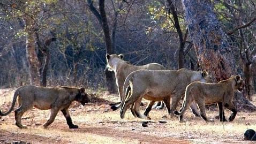
M 10 108 L 13 93 L 13 89 L 0 89 L 1 111 Z M 185 113 L 187 121 L 179 123 L 178 118 L 171 119 L 167 115 L 167 109 L 152 110 L 148 126 L 143 127 L 145 119 L 134 118 L 128 110 L 125 118 L 121 119 L 119 110 L 110 109 L 109 103 L 117 102 L 117 95 L 107 95 L 106 92 L 97 92 L 96 95 L 101 98 L 94 99 L 85 107 L 79 103 L 72 104 L 71 118 L 74 124 L 79 125 L 75 130 L 69 129 L 61 112 L 54 123 L 43 129 L 49 110 L 35 108 L 22 117 L 22 124 L 28 128 L 20 129 L 14 124 L 14 112 L 11 112 L 0 118 L 0 143 L 253 143 L 244 141 L 243 133 L 246 128 L 256 130 L 256 112 L 238 112 L 234 122 L 230 123 L 221 123 L 217 119 L 206 123 L 188 110 Z M 141 107 L 141 112 L 145 107 Z M 216 108 L 207 110 L 209 118 L 216 115 Z M 225 110 L 225 115 L 229 116 L 230 111 Z

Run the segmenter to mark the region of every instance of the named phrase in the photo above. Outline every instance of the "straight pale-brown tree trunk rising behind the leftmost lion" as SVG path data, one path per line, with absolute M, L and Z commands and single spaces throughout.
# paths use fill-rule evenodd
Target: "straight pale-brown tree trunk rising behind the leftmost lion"
M 33 22 L 31 19 L 25 17 L 26 22 L 26 56 L 29 65 L 29 76 L 31 85 L 40 85 L 40 73 L 39 73 L 39 60 L 35 51 L 35 33 L 33 28 Z

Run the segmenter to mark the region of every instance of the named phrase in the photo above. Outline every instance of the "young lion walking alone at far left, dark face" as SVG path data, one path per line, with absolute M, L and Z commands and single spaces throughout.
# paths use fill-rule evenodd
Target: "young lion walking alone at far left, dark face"
M 8 115 L 14 108 L 16 99 L 18 97 L 18 109 L 15 110 L 15 121 L 19 128 L 26 128 L 26 126 L 21 125 L 21 117 L 25 111 L 35 107 L 41 110 L 51 109 L 50 117 L 46 123 L 43 124 L 44 128 L 47 128 L 58 113 L 59 110 L 62 111 L 66 118 L 66 123 L 69 128 L 78 128 L 77 125 L 72 123 L 69 106 L 71 102 L 78 101 L 82 105 L 89 102 L 89 97 L 85 93 L 85 88 L 75 88 L 75 87 L 37 87 L 37 86 L 22 86 L 19 87 L 13 96 L 12 106 L 9 111 L 3 113 L 0 111 L 0 116 Z

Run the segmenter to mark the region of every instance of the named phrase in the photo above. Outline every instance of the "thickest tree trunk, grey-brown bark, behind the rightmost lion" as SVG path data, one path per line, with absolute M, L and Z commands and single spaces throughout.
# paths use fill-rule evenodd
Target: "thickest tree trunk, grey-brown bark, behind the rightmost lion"
M 236 73 L 236 63 L 228 43 L 213 11 L 210 1 L 182 0 L 185 21 L 197 53 L 199 65 L 213 76 L 213 81 L 228 79 Z M 235 102 L 243 108 L 256 110 L 244 96 L 235 96 Z M 240 109 L 241 107 L 239 107 Z

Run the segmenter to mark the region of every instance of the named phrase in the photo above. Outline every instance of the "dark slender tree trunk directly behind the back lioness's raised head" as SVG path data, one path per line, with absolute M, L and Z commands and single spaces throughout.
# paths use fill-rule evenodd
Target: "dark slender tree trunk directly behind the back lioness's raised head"
M 102 29 L 103 29 L 104 36 L 105 36 L 106 53 L 112 54 L 113 50 L 112 50 L 112 46 L 111 46 L 111 37 L 110 37 L 110 33 L 109 33 L 108 20 L 107 20 L 105 8 L 104 8 L 104 5 L 105 5 L 104 3 L 105 3 L 104 0 L 99 1 L 100 15 L 101 15 L 101 20 L 102 20 Z M 117 89 L 116 89 L 116 85 L 115 85 L 114 72 L 105 70 L 105 74 L 106 74 L 108 92 L 116 93 Z

